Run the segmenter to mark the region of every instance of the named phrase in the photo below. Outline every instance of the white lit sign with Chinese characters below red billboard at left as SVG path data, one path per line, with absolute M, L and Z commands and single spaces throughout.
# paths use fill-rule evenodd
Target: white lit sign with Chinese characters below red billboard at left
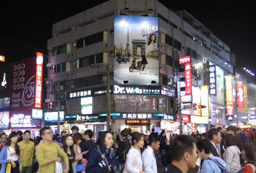
M 32 120 L 31 115 L 13 114 L 10 119 L 11 128 L 15 127 L 35 127 L 41 128 L 41 120 Z

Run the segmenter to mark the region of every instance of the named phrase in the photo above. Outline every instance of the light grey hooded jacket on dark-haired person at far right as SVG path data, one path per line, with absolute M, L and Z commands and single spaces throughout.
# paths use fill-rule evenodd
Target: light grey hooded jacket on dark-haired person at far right
M 240 149 L 237 146 L 230 146 L 226 149 L 223 154 L 223 160 L 227 164 L 227 172 L 236 173 L 241 169 L 240 154 Z

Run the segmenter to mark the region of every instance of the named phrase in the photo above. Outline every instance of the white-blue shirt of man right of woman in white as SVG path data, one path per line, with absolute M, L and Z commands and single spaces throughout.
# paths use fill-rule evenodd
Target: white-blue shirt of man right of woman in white
M 155 158 L 154 150 L 148 146 L 141 155 L 143 166 L 146 166 L 144 172 L 155 173 L 157 172 L 157 159 Z

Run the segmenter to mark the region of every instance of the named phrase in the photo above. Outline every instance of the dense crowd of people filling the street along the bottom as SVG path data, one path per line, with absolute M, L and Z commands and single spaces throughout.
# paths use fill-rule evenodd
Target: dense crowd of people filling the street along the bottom
M 169 145 L 166 132 L 158 135 L 154 129 L 148 136 L 130 128 L 121 131 L 120 136 L 105 131 L 96 143 L 93 131 L 80 134 L 77 126 L 71 128 L 72 134 L 62 131 L 60 136 L 54 135 L 51 127 L 43 127 L 34 140 L 30 131 L 11 132 L 8 139 L 3 133 L 0 173 L 6 172 L 10 164 L 12 173 L 54 173 L 59 170 L 57 163 L 62 167 L 59 172 L 64 173 L 185 173 L 193 168 L 200 173 L 255 172 L 255 129 L 242 132 L 229 126 L 226 133 L 222 130 L 218 127 L 205 134 L 172 135 Z M 165 166 L 160 171 L 158 153 Z

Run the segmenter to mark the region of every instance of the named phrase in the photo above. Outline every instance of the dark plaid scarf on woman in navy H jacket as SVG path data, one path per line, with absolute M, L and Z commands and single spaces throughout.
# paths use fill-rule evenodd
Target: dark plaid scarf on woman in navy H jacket
M 101 155 L 102 160 L 104 160 L 107 166 L 109 166 L 110 161 L 112 161 L 111 172 L 120 173 L 120 170 L 118 168 L 119 162 L 116 158 L 115 150 L 110 148 L 109 146 L 104 146 L 104 149 L 105 149 L 105 152 L 102 154 L 101 150 L 99 149 L 99 145 L 97 145 L 95 148 L 95 151 L 97 151 L 98 154 Z M 111 160 L 109 160 L 109 158 Z

